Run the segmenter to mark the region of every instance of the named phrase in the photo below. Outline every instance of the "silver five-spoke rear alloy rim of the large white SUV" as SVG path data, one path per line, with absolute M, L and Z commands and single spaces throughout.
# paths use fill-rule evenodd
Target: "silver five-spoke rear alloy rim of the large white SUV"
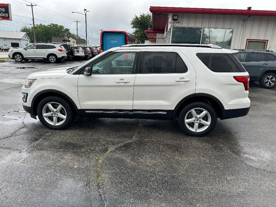
M 211 124 L 211 115 L 202 108 L 191 109 L 185 116 L 185 125 L 192 132 L 203 132 Z

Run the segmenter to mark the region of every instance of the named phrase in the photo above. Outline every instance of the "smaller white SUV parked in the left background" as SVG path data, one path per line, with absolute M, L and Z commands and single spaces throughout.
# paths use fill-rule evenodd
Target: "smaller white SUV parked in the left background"
M 58 60 L 66 59 L 67 55 L 66 49 L 62 44 L 36 43 L 9 51 L 8 57 L 14 59 L 16 62 L 31 59 L 47 59 L 50 63 L 55 63 Z

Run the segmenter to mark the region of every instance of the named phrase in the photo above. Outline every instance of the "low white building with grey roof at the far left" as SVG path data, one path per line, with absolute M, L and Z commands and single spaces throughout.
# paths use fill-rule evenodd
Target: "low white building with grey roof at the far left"
M 0 31 L 0 46 L 25 47 L 30 38 L 25 32 Z

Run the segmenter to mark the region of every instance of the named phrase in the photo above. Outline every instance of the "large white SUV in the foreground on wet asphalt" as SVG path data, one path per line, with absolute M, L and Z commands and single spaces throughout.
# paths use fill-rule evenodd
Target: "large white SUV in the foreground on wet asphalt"
M 249 74 L 230 50 L 203 44 L 112 48 L 74 68 L 29 75 L 23 108 L 50 129 L 75 115 L 173 120 L 188 135 L 249 112 Z

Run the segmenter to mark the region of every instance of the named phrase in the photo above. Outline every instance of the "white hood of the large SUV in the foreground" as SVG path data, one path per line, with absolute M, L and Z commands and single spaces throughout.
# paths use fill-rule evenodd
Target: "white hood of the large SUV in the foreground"
M 34 72 L 28 75 L 28 79 L 44 79 L 44 78 L 62 78 L 68 73 L 66 70 L 72 67 L 55 68 L 46 71 Z

